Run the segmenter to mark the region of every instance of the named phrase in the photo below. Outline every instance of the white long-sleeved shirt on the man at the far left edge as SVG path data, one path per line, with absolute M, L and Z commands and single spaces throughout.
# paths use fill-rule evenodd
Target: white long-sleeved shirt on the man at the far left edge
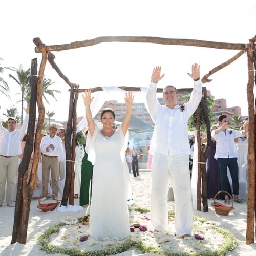
M 9 132 L 2 126 L 0 120 L 0 155 L 17 156 L 22 154 L 22 137 L 24 136 L 29 123 L 29 115 L 26 114 L 20 129 Z

